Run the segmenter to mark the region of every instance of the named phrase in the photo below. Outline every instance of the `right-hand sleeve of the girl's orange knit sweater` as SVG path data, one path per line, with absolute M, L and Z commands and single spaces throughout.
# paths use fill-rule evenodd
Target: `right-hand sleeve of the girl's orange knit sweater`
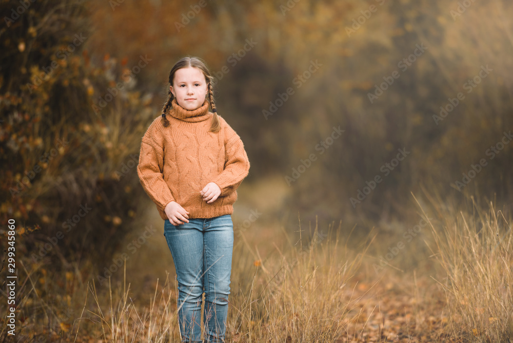
M 225 130 L 225 168 L 212 180 L 221 188 L 222 197 L 234 192 L 249 173 L 249 159 L 241 138 L 227 123 Z

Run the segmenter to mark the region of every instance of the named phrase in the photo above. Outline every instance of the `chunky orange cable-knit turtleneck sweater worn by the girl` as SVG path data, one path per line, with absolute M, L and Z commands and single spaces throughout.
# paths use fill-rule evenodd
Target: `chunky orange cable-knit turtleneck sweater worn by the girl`
M 179 203 L 189 218 L 213 218 L 233 213 L 236 189 L 249 173 L 249 159 L 241 138 L 218 115 L 221 130 L 210 132 L 213 113 L 209 103 L 186 110 L 176 99 L 166 115 L 155 118 L 141 142 L 137 175 L 155 203 L 162 219 L 171 201 Z M 207 183 L 215 182 L 221 195 L 207 203 L 200 195 Z

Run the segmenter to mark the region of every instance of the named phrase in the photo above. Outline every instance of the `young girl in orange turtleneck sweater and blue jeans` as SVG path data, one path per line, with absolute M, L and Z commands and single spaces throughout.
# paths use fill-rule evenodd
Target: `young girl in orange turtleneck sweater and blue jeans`
M 186 57 L 169 72 L 162 117 L 148 127 L 137 174 L 164 219 L 178 280 L 183 342 L 225 339 L 233 252 L 233 203 L 249 173 L 241 138 L 217 115 L 209 70 Z M 208 111 L 208 107 L 212 112 Z

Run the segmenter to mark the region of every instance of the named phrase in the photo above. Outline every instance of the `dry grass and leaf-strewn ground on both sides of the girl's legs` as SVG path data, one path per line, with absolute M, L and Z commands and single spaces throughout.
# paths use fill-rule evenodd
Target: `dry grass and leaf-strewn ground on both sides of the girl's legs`
M 429 269 L 405 264 L 375 273 L 368 257 L 385 244 L 376 230 L 357 244 L 342 222 L 324 233 L 317 223 L 304 230 L 299 221 L 297 235 L 279 224 L 253 223 L 235 240 L 227 341 L 510 341 L 510 215 L 491 202 L 484 211 L 473 198 L 457 211 L 438 196 L 426 197 L 417 203 L 432 238 L 426 227 L 416 243 L 430 249 Z M 415 251 L 411 245 L 398 259 Z M 41 267 L 24 269 L 20 307 L 22 313 L 40 309 L 41 321 L 27 316 L 22 332 L 52 341 L 179 341 L 173 274 L 156 279 L 151 292 L 143 288 L 136 300 L 127 263 L 102 287 L 78 266 L 65 279 L 52 279 Z M 60 288 L 66 295 L 57 295 Z M 74 310 L 69 319 L 67 307 Z

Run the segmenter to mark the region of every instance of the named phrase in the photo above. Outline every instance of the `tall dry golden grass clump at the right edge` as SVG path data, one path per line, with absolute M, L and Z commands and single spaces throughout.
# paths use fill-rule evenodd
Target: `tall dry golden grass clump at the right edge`
M 417 199 L 416 199 L 417 200 Z M 435 245 L 430 249 L 445 275 L 438 282 L 447 295 L 455 332 L 471 340 L 513 340 L 513 235 L 511 213 L 487 208 L 474 197 L 458 211 L 439 196 L 429 197 Z M 422 207 L 422 206 L 421 206 Z M 425 214 L 427 208 L 422 208 Z

